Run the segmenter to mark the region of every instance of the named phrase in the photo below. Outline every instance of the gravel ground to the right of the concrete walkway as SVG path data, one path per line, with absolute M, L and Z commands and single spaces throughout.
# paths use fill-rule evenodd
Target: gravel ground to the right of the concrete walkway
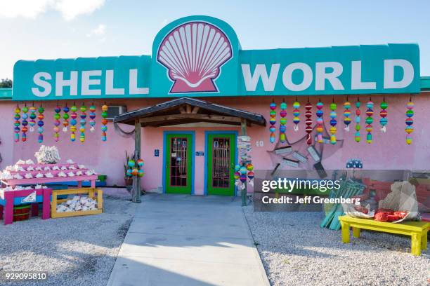
M 344 244 L 322 212 L 244 212 L 272 285 L 430 285 L 430 252 L 412 256 L 410 238 L 362 231 Z

